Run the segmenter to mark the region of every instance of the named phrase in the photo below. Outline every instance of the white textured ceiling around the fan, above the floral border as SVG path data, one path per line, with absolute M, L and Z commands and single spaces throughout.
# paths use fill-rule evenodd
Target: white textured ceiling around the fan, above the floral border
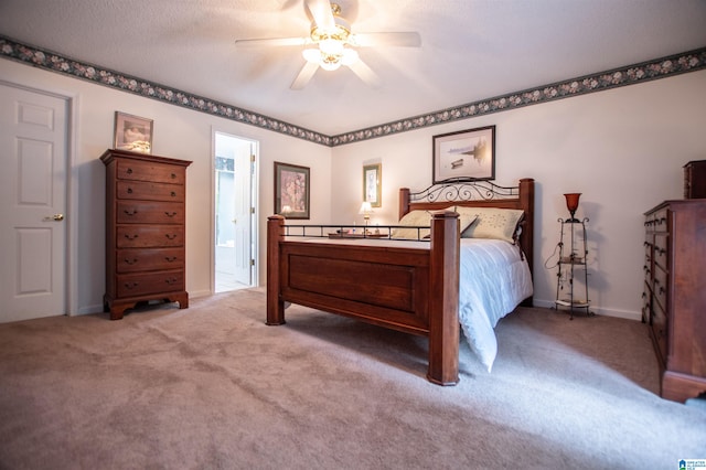
M 353 32 L 417 31 L 365 47 L 382 79 L 319 71 L 289 85 L 303 0 L 0 0 L 0 34 L 334 136 L 706 45 L 706 0 L 340 0 Z

